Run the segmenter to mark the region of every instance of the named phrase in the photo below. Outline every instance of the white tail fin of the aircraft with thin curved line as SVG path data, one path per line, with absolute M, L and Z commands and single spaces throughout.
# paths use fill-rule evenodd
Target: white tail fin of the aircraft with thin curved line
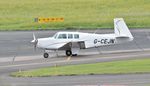
M 130 40 L 133 40 L 133 36 L 123 18 L 114 19 L 114 32 L 116 38 L 129 38 Z

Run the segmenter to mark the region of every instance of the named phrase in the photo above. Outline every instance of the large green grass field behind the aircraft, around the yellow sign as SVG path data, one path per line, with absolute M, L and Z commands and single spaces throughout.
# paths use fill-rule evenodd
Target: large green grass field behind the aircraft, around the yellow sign
M 113 28 L 123 17 L 130 28 L 150 27 L 149 0 L 1 0 L 0 30 Z M 36 23 L 37 17 L 64 22 Z

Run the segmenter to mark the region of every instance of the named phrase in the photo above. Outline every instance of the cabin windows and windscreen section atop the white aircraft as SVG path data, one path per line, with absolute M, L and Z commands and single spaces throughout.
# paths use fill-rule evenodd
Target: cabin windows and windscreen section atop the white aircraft
M 79 39 L 77 32 L 58 32 L 53 36 L 55 39 Z

